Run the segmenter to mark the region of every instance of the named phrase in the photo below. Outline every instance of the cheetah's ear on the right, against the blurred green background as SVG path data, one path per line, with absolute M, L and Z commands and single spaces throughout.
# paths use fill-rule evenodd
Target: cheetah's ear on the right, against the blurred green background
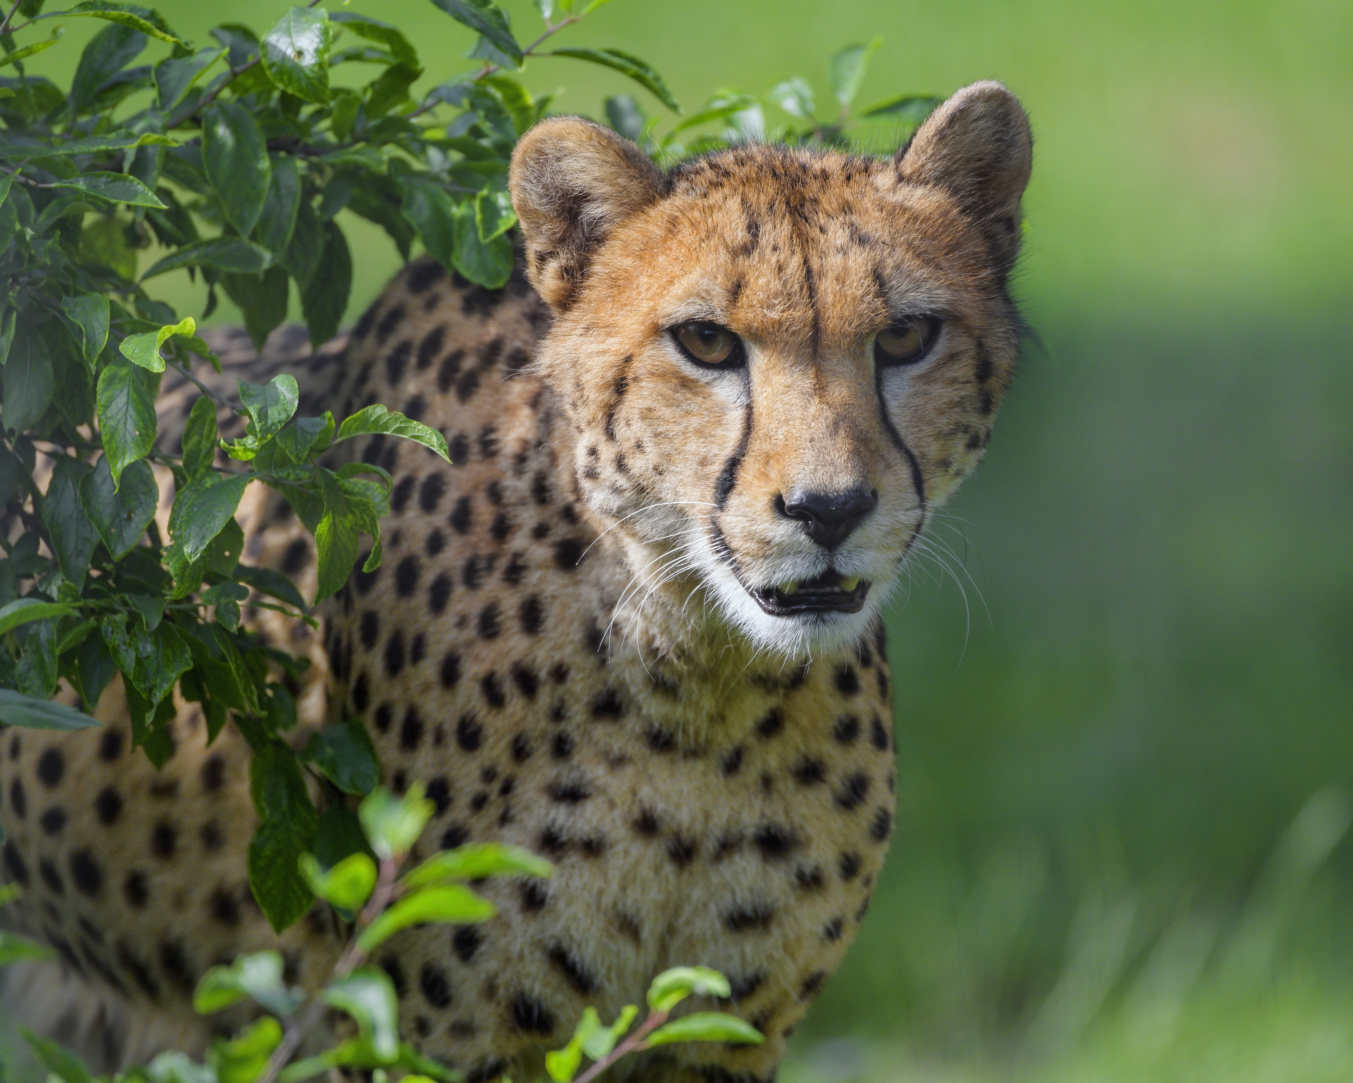
M 898 152 L 897 171 L 907 184 L 953 194 L 1008 265 L 1019 252 L 1019 202 L 1032 156 L 1019 99 L 1000 83 L 974 83 L 930 115 Z

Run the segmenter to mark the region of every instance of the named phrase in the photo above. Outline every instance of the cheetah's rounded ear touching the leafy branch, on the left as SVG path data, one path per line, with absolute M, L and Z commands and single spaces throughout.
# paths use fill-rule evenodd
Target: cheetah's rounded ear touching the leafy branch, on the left
M 658 202 L 663 177 L 637 146 L 578 116 L 521 137 L 507 177 L 526 273 L 556 311 L 572 305 L 593 252 L 617 223 Z

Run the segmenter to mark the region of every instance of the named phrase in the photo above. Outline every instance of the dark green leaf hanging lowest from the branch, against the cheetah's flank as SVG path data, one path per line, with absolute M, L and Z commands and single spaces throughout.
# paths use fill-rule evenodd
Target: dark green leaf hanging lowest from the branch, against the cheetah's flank
M 314 902 L 298 862 L 314 849 L 319 816 L 295 754 L 276 742 L 254 750 L 249 788 L 258 830 L 249 843 L 249 885 L 279 933 Z

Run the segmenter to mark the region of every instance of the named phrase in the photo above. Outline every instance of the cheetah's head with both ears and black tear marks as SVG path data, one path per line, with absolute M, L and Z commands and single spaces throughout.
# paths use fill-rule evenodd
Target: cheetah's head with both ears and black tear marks
M 893 160 L 747 145 L 663 176 L 584 120 L 528 133 L 537 367 L 636 598 L 789 658 L 873 627 L 1011 379 L 1030 149 L 994 83 Z

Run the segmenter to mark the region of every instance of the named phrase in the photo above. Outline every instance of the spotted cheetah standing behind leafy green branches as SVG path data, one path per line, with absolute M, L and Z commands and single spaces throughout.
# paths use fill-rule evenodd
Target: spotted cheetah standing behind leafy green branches
M 881 613 L 1012 378 L 1031 148 L 997 83 L 892 158 L 750 143 L 662 172 L 551 118 L 513 156 L 505 288 L 422 259 L 342 348 L 226 367 L 290 368 L 310 413 L 382 402 L 451 447 L 357 447 L 395 479 L 384 563 L 322 635 L 250 619 L 314 659 L 302 731 L 357 717 L 387 785 L 426 785 L 417 854 L 501 841 L 555 865 L 484 883 L 490 922 L 380 954 L 405 1037 L 471 1083 L 540 1076 L 584 1006 L 613 1018 L 679 964 L 725 973 L 731 996 L 693 1007 L 766 1041 L 629 1074 L 774 1078 L 893 831 Z M 254 486 L 241 521 L 248 560 L 314 588 L 283 504 Z M 275 935 L 253 903 L 242 739 L 207 747 L 183 704 L 156 772 L 119 696 L 101 730 L 0 742 L 5 876 L 62 957 L 14 972 L 11 1003 L 107 1065 L 226 1026 L 188 1006 L 207 967 L 277 946 L 314 987 L 342 935 L 323 904 Z

